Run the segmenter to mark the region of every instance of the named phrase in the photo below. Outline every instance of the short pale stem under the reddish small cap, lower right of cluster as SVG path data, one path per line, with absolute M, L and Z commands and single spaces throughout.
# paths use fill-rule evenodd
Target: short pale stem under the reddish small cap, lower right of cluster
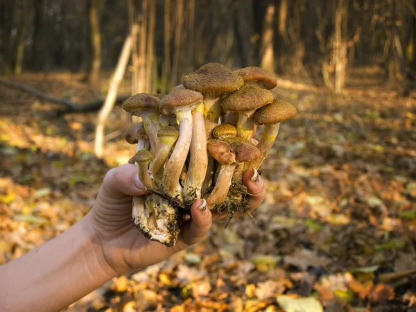
M 212 189 L 211 194 L 209 194 L 207 199 L 209 209 L 213 209 L 216 205 L 222 204 L 225 201 L 225 198 L 227 198 L 236 165 L 236 163 L 221 165 L 215 187 Z

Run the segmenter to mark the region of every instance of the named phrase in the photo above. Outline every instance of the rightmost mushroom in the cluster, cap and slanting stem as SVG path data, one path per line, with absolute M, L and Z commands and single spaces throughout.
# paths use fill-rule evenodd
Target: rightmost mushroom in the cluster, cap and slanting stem
M 244 165 L 244 169 L 258 169 L 266 158 L 268 151 L 275 143 L 281 121 L 292 119 L 297 114 L 296 107 L 283 100 L 275 100 L 271 104 L 261 107 L 254 114 L 254 122 L 264 125 L 263 135 L 257 144 L 261 157 Z

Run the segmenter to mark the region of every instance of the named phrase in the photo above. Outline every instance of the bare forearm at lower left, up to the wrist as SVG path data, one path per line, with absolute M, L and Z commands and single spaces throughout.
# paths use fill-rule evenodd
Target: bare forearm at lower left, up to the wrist
M 0 267 L 0 311 L 60 311 L 112 277 L 87 216 Z

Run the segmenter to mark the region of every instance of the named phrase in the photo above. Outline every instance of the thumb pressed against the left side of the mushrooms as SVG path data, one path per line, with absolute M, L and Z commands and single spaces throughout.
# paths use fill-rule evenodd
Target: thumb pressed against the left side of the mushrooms
M 148 193 L 137 175 L 137 166 L 124 164 L 107 172 L 103 181 L 103 191 L 112 198 L 141 196 Z

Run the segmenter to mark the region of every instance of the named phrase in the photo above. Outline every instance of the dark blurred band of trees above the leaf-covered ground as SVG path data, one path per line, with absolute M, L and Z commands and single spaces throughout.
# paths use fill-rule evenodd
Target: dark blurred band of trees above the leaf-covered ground
M 133 26 L 135 92 L 162 93 L 207 62 L 261 66 L 340 92 L 375 65 L 401 94 L 415 80 L 412 0 L 1 0 L 3 73 L 113 69 Z

